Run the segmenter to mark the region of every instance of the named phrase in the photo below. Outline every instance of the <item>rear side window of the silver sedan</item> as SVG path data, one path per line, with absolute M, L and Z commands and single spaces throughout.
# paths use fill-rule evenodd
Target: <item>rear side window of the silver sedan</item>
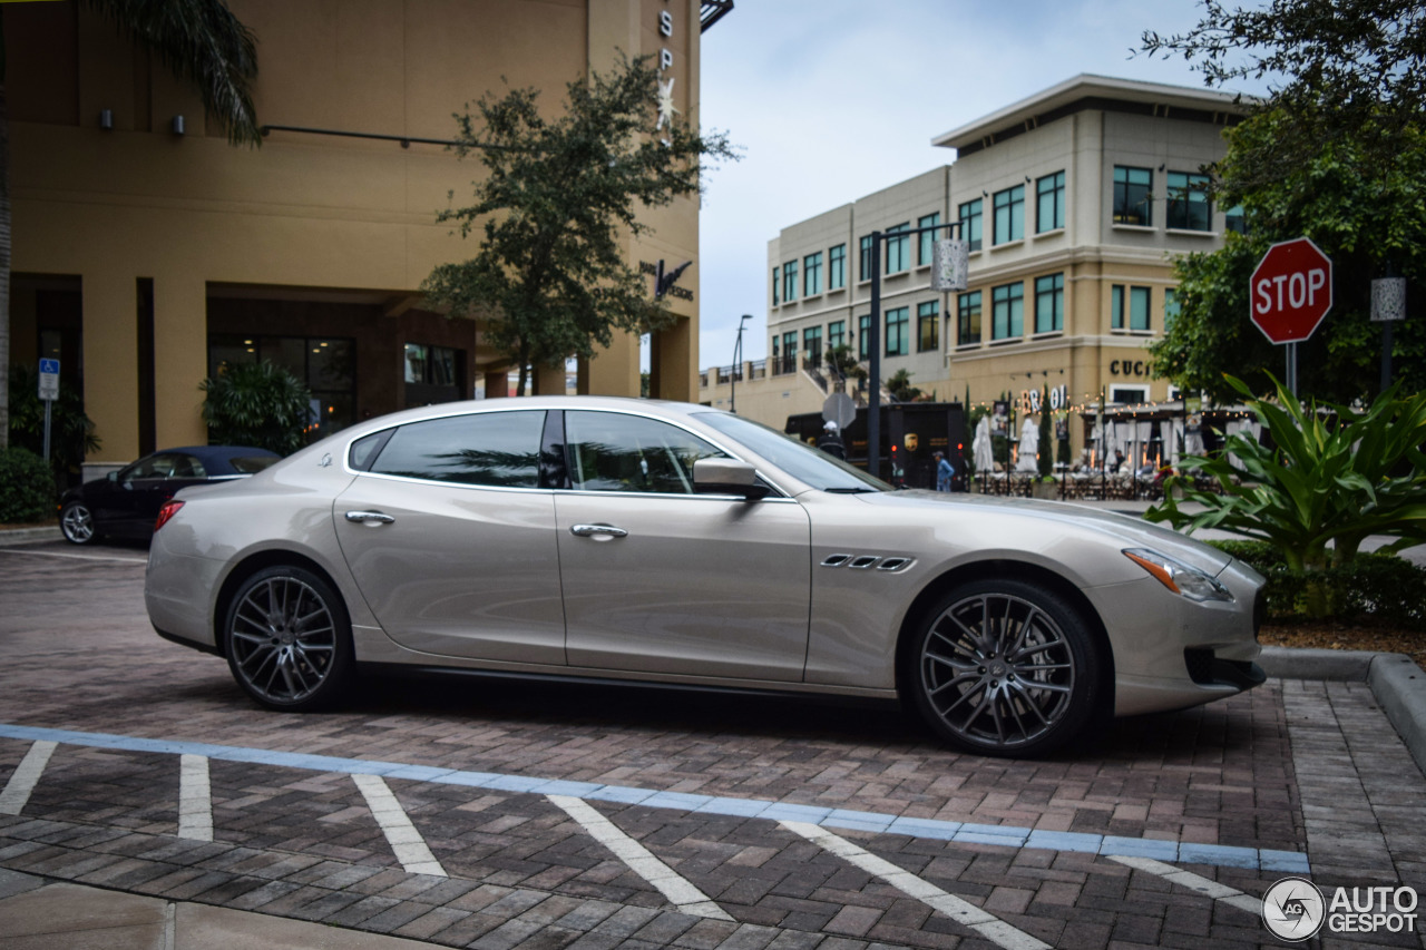
M 545 414 L 456 415 L 404 425 L 371 471 L 461 485 L 538 488 Z

